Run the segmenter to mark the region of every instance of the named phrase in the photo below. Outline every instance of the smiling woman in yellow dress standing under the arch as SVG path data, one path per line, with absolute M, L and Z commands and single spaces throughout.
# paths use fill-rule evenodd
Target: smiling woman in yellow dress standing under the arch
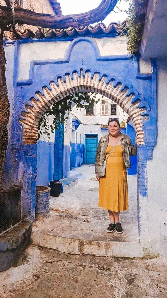
M 100 181 L 98 206 L 108 209 L 111 220 L 107 232 L 111 233 L 116 229 L 118 234 L 122 234 L 119 213 L 128 210 L 127 169 L 130 168 L 130 155 L 137 154 L 137 147 L 136 143 L 133 147 L 130 137 L 122 134 L 119 129 L 118 118 L 110 119 L 108 122 L 109 134 L 102 136 L 97 146 L 95 173 L 97 180 Z M 114 147 L 114 145 L 116 146 Z M 114 150 L 109 156 L 113 148 Z M 105 176 L 99 178 L 98 165 L 103 165 L 107 157 Z

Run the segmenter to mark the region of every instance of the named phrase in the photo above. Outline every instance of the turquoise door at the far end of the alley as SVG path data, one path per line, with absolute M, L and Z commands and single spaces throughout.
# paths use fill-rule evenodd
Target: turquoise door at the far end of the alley
M 85 135 L 85 153 L 86 153 L 86 164 L 95 164 L 95 155 L 98 144 L 97 134 L 86 134 Z

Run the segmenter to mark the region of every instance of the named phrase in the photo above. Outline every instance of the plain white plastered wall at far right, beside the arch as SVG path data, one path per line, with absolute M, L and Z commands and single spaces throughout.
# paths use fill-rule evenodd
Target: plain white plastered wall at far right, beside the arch
M 161 233 L 161 210 L 167 210 L 167 60 L 157 60 L 157 145 L 153 151 L 153 159 L 148 161 L 148 212 L 150 245 L 158 244 Z M 160 251 L 167 256 L 167 218 L 166 235 L 161 237 Z M 163 229 L 164 230 L 164 229 Z M 163 232 L 164 234 L 164 232 Z M 166 240 L 165 240 L 166 239 Z

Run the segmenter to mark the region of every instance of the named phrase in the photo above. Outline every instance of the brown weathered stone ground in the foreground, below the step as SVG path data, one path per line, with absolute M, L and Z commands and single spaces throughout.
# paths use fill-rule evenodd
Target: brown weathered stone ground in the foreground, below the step
M 31 245 L 19 262 L 1 272 L 1 298 L 167 297 L 167 260 L 162 257 L 70 255 Z

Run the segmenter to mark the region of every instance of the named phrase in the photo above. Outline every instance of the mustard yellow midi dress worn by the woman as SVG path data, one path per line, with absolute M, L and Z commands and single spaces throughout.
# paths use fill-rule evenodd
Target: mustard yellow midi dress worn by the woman
M 107 156 L 112 148 L 108 145 Z M 100 178 L 99 185 L 99 207 L 115 212 L 128 210 L 127 170 L 122 153 L 122 145 L 115 146 L 107 159 L 105 176 Z

